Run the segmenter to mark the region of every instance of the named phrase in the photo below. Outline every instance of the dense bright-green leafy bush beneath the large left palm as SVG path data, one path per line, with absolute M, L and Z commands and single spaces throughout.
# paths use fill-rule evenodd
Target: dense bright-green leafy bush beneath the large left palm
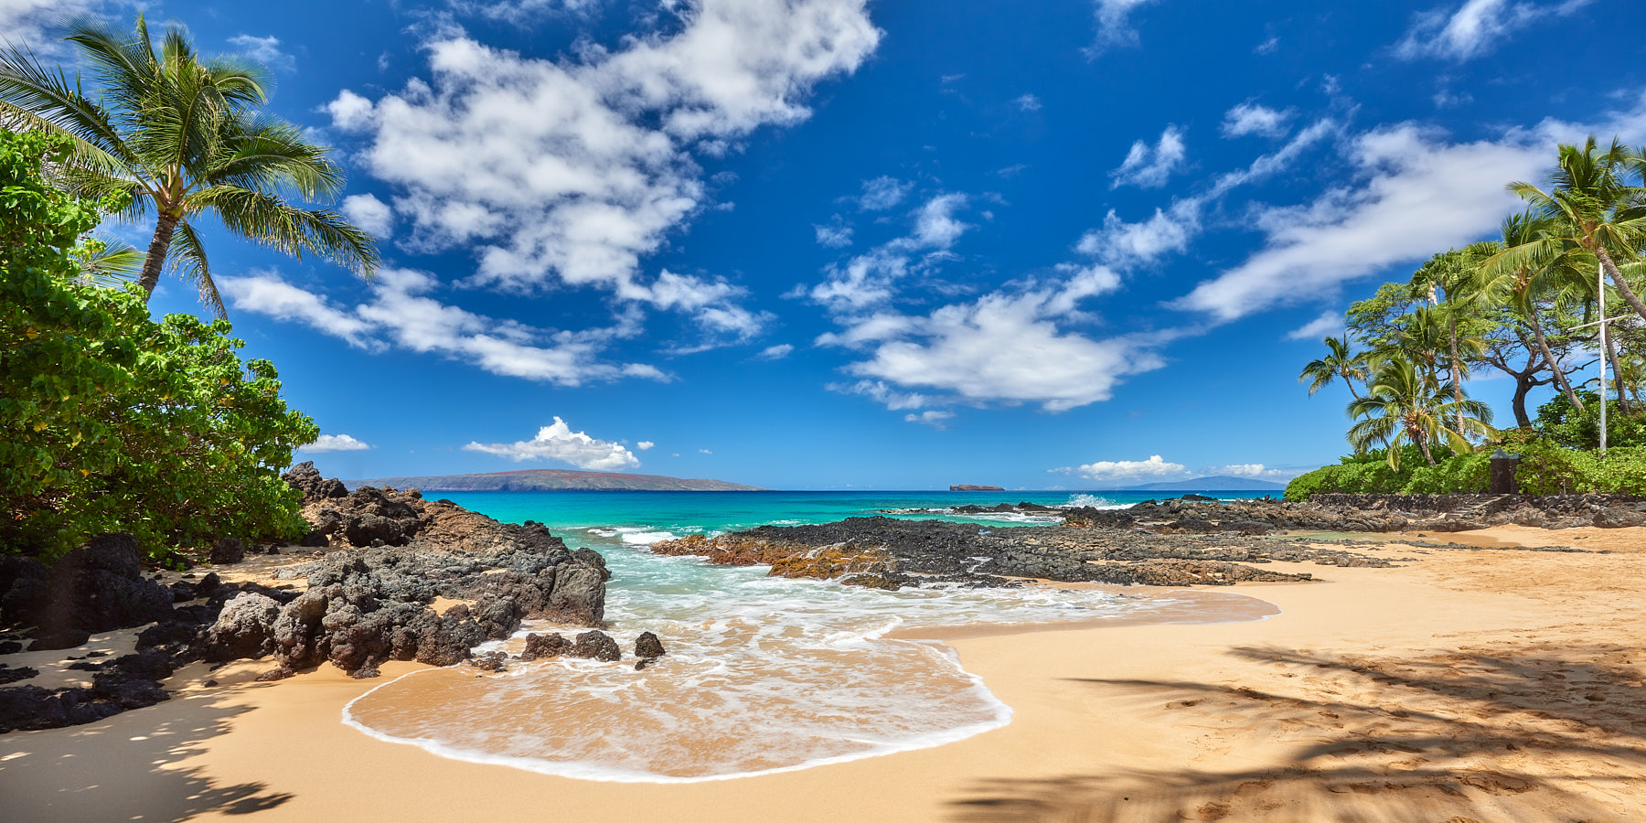
M 41 183 L 67 140 L 0 132 L 0 545 L 56 553 L 99 532 L 146 548 L 293 538 L 278 477 L 318 436 L 226 321 L 155 323 L 135 291 L 77 280 L 107 201 Z

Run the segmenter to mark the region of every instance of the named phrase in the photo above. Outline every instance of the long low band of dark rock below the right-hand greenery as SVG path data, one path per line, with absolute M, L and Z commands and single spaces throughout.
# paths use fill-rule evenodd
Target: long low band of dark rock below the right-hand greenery
M 1496 525 L 1646 525 L 1646 497 L 1621 494 L 1317 494 L 1287 500 L 1146 500 L 1129 509 L 1067 509 L 1067 525 L 1159 533 L 1467 532 Z

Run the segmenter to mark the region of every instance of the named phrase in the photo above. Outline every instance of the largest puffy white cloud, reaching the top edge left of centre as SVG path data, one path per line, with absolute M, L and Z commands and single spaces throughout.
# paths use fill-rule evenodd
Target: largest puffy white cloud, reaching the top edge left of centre
M 701 0 L 665 13 L 678 26 L 614 49 L 584 43 L 560 61 L 439 26 L 423 44 L 430 79 L 377 100 L 342 91 L 326 109 L 362 133 L 357 156 L 395 188 L 408 247 L 476 250 L 471 285 L 558 281 L 662 306 L 665 283 L 645 283 L 640 258 L 704 207 L 696 158 L 805 120 L 811 87 L 856 71 L 881 38 L 866 0 Z M 691 303 L 673 305 L 706 329 L 741 334 L 759 318 Z

